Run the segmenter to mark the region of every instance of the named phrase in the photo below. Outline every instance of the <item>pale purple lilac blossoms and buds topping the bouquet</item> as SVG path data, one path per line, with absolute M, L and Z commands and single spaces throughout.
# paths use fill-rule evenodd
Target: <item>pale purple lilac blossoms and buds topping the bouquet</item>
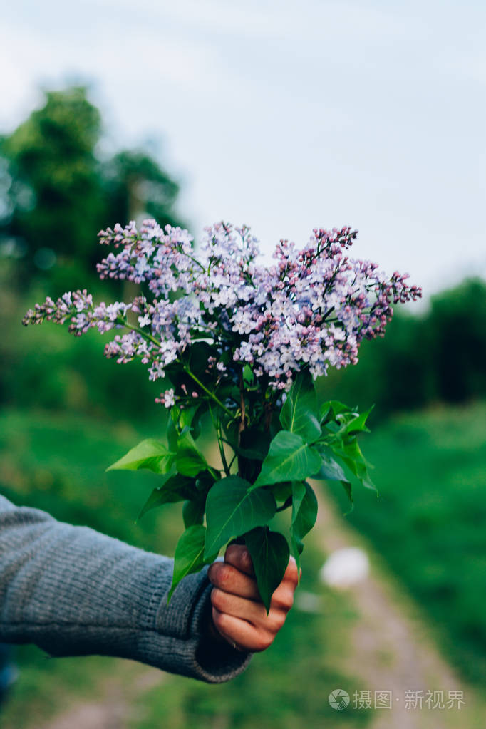
M 383 336 L 392 305 L 421 296 L 418 286 L 407 286 L 407 275 L 387 278 L 377 264 L 348 257 L 357 235 L 350 227 L 315 229 L 303 249 L 281 241 L 270 267 L 256 262 L 258 241 L 248 227 L 206 228 L 197 254 L 187 230 L 154 220 L 98 235 L 114 248 L 98 264 L 100 277 L 133 281 L 144 295 L 95 305 L 86 291 L 69 292 L 36 304 L 23 324 L 70 319 L 75 335 L 92 327 L 125 330 L 106 345 L 106 356 L 119 363 L 140 358 L 152 380 L 205 340 L 218 378 L 235 381 L 248 363 L 257 380 L 288 390 L 304 367 L 315 378 L 329 365 L 356 364 L 361 341 Z M 173 389 L 157 401 L 171 407 Z

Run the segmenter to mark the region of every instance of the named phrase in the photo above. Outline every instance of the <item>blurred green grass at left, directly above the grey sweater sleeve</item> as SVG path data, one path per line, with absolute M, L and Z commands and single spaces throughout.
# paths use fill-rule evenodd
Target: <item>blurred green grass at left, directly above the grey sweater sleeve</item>
M 162 437 L 165 428 L 160 427 Z M 86 524 L 149 550 L 173 545 L 177 518 L 150 512 L 135 523 L 138 512 L 157 486 L 157 477 L 141 472 L 106 472 L 145 431 L 128 424 L 109 424 L 82 416 L 4 411 L 0 415 L 0 488 L 16 504 L 49 511 L 60 521 Z M 172 526 L 171 526 L 172 525 Z

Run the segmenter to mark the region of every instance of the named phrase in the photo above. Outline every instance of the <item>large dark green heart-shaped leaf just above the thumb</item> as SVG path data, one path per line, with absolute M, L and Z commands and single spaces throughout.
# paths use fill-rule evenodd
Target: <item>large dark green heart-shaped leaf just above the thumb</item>
M 232 537 L 240 537 L 255 526 L 264 526 L 276 508 L 270 491 L 252 490 L 248 481 L 239 476 L 216 481 L 206 499 L 205 555 L 218 553 Z

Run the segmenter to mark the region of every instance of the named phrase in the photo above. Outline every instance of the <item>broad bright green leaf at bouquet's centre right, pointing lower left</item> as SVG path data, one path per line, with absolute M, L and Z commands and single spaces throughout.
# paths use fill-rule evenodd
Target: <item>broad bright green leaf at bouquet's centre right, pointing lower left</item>
M 302 481 L 313 476 L 321 467 L 318 451 L 304 443 L 297 433 L 281 430 L 275 435 L 262 471 L 253 488 L 280 481 Z

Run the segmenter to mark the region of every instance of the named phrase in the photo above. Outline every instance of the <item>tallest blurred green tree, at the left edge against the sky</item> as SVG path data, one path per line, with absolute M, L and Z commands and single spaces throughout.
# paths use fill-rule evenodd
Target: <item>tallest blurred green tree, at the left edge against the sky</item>
M 85 88 L 72 87 L 47 92 L 42 109 L 1 139 L 0 234 L 25 254 L 29 279 L 56 260 L 75 264 L 79 279 L 89 273 L 93 231 L 103 217 L 100 137 L 100 112 Z

